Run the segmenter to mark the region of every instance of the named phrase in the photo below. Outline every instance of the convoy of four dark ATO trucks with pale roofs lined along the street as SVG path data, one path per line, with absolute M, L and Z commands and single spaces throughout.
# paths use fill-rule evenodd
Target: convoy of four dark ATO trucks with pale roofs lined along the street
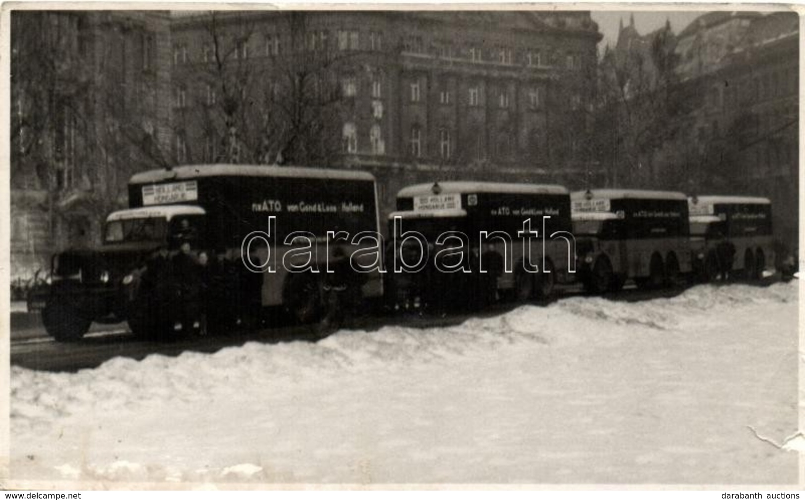
M 629 280 L 755 279 L 774 262 L 759 198 L 428 182 L 398 192 L 384 237 L 361 171 L 178 166 L 135 174 L 128 194 L 102 244 L 53 256 L 51 285 L 29 297 L 57 341 L 92 322 L 127 321 L 147 338 L 204 329 L 186 310 L 229 326 L 256 326 L 266 309 L 314 322 L 331 266 L 351 269 L 361 303 L 399 310 L 544 300 L 576 283 L 606 293 Z M 211 271 L 204 293 L 175 280 L 182 262 Z

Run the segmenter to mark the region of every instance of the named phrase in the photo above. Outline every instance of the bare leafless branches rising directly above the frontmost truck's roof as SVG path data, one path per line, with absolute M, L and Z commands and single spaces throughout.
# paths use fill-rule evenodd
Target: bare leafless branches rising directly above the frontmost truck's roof
M 180 110 L 177 133 L 196 128 L 190 161 L 326 166 L 342 148 L 341 112 L 349 105 L 340 76 L 355 51 L 308 28 L 309 13 L 278 16 L 270 34 L 254 20 L 204 22 L 204 65 L 185 75 L 204 82 L 194 105 Z M 257 47 L 257 48 L 255 48 Z M 249 51 L 259 50 L 258 57 Z M 267 56 L 267 57 L 265 57 Z M 199 125 L 200 124 L 200 125 Z

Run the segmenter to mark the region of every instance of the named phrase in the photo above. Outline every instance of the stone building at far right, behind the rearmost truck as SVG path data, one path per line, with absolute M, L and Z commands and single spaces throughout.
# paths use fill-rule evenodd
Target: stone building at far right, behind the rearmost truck
M 633 47 L 650 61 L 663 31 L 621 30 L 621 58 Z M 772 199 L 782 248 L 797 246 L 799 218 L 799 18 L 793 12 L 719 11 L 672 35 L 675 133 L 650 151 L 650 185 L 691 195 Z M 646 72 L 656 73 L 652 64 Z M 649 87 L 648 92 L 651 91 Z

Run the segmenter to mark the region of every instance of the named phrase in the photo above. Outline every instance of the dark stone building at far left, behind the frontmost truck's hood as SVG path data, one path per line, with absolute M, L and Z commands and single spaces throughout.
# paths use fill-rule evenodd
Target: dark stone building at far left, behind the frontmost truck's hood
M 10 35 L 13 279 L 99 240 L 130 174 L 163 163 L 170 18 L 17 10 Z

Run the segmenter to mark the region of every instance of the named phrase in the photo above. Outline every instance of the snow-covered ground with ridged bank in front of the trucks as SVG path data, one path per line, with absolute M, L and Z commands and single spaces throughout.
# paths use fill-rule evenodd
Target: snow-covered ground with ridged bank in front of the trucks
M 11 474 L 63 488 L 793 484 L 797 453 L 754 432 L 782 445 L 797 431 L 797 316 L 796 283 L 700 286 L 76 374 L 13 367 Z

